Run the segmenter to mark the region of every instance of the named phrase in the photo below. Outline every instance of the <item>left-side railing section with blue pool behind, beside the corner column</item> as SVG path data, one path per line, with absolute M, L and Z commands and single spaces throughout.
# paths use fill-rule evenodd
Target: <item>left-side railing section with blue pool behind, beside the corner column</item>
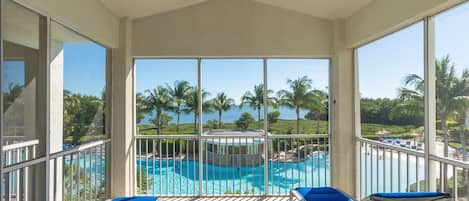
M 55 170 L 54 200 L 106 199 L 106 148 L 110 141 L 93 141 L 50 155 Z

